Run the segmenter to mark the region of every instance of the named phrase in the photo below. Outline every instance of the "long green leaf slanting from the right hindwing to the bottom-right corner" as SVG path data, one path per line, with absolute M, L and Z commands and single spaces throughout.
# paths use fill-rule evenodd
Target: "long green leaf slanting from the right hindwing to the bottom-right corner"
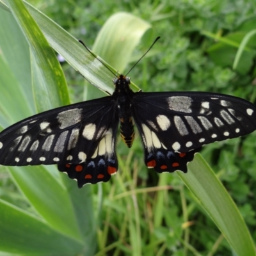
M 252 237 L 236 204 L 209 165 L 196 154 L 188 167 L 188 173 L 177 172 L 177 175 L 211 216 L 232 249 L 239 256 L 256 255 Z

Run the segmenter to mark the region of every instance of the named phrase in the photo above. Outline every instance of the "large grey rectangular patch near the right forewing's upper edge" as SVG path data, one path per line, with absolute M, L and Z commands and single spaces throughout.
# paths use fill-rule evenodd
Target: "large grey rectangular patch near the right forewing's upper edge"
M 169 108 L 173 111 L 191 113 L 192 99 L 186 96 L 172 96 L 167 99 Z

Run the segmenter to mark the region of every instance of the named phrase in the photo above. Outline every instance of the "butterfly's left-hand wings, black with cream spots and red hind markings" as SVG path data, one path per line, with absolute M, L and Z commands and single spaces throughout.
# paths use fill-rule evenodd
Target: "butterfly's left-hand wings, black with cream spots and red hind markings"
M 108 181 L 118 166 L 117 127 L 111 97 L 45 111 L 0 133 L 0 164 L 58 164 L 79 187 Z

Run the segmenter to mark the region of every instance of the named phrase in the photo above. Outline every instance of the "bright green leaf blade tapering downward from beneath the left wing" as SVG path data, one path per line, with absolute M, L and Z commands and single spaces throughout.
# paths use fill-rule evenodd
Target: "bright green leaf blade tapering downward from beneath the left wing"
M 67 188 L 61 184 L 61 173 L 54 166 L 9 167 L 9 170 L 22 193 L 49 225 L 63 234 L 81 237 Z

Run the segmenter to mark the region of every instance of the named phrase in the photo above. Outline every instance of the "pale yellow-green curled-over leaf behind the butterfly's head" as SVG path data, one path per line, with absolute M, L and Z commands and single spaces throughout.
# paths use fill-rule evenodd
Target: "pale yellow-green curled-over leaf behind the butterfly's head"
M 124 72 L 132 51 L 150 28 L 148 22 L 131 13 L 116 13 L 100 29 L 93 51 L 116 70 Z

